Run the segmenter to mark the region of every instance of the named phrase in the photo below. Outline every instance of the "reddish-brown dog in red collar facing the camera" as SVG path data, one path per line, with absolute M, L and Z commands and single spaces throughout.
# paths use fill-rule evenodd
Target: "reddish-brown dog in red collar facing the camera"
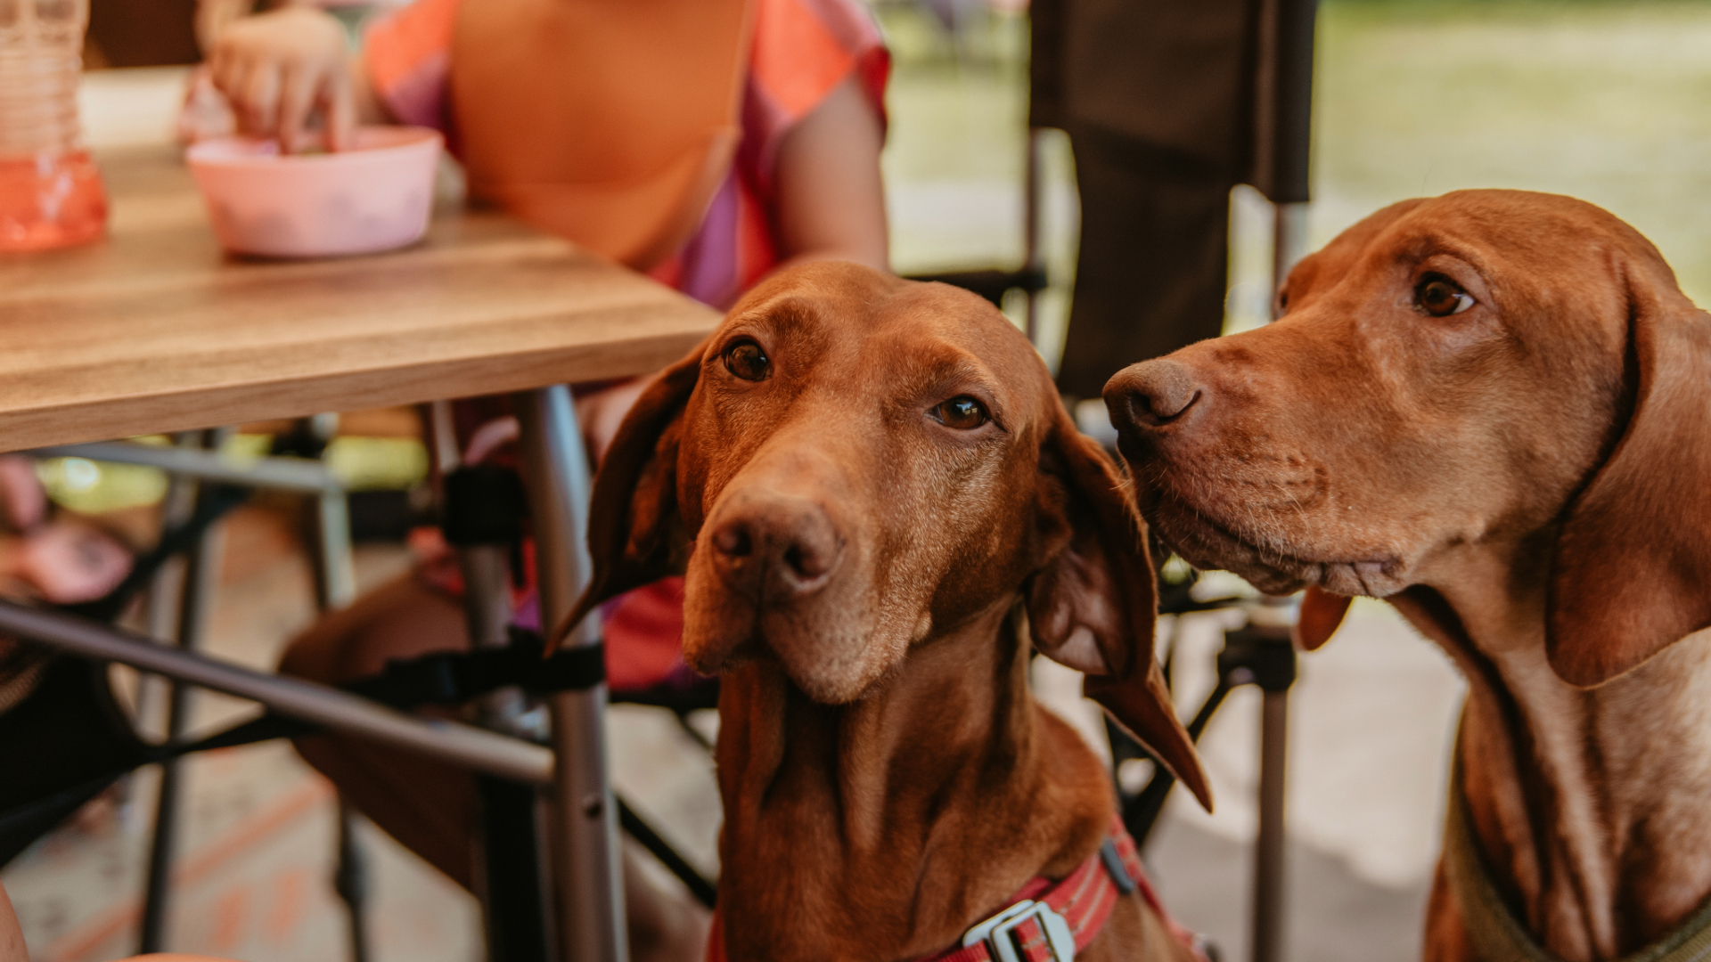
M 1030 638 L 1206 799 L 1133 503 L 972 294 L 758 286 L 626 418 L 590 544 L 580 611 L 686 572 L 684 657 L 722 676 L 719 955 L 932 955 L 1095 858 L 1110 777 L 1028 697 Z M 1136 895 L 1085 952 L 1177 957 Z

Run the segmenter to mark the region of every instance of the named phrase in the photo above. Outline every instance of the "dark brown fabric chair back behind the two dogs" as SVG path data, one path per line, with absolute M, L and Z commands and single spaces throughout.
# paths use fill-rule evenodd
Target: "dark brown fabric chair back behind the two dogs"
M 1069 132 L 1081 255 L 1057 385 L 1217 337 L 1252 163 L 1258 0 L 1035 0 L 1030 122 Z

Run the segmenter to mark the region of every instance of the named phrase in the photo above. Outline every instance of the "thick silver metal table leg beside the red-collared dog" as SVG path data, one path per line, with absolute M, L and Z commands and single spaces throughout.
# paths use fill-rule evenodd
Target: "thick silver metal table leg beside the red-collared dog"
M 541 623 L 570 613 L 589 584 L 589 457 L 563 385 L 513 395 L 522 426 L 525 488 L 536 536 Z M 597 644 L 587 623 L 571 645 Z M 554 786 L 549 834 L 561 962 L 628 962 L 618 818 L 606 765 L 606 685 L 561 692 L 549 702 Z

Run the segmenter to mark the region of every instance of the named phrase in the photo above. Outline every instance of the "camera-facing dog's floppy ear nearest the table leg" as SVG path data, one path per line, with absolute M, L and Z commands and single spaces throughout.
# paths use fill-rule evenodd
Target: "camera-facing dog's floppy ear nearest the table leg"
M 618 426 L 594 476 L 589 507 L 594 579 L 553 632 L 549 647 L 556 647 L 602 601 L 683 573 L 688 534 L 678 512 L 678 443 L 683 438 L 683 409 L 700 380 L 705 351 L 703 341 L 660 371 Z

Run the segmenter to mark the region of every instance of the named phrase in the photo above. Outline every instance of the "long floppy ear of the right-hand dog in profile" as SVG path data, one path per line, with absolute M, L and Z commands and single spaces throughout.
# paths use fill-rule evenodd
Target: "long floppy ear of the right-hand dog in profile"
M 1569 685 L 1711 625 L 1711 317 L 1649 253 L 1627 277 L 1632 414 L 1552 556 L 1545 650 Z

